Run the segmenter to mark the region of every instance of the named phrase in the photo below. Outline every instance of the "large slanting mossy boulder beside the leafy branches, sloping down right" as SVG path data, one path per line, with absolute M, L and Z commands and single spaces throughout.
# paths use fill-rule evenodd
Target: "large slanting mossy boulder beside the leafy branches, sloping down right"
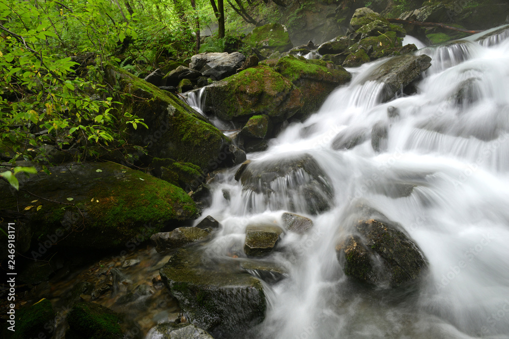
M 194 111 L 174 95 L 116 69 L 124 93 L 133 99 L 124 103 L 132 114 L 144 119 L 148 129 L 139 126 L 130 130 L 134 145 L 148 146 L 149 156 L 172 158 L 192 163 L 205 169 L 218 161 L 231 140 L 201 114 Z

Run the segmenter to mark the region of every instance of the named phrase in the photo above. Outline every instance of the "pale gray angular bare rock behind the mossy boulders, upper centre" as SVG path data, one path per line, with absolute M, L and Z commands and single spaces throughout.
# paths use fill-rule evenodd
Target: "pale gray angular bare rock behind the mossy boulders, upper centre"
M 239 52 L 201 53 L 191 56 L 189 67 L 212 80 L 221 80 L 235 74 L 245 59 L 246 57 Z

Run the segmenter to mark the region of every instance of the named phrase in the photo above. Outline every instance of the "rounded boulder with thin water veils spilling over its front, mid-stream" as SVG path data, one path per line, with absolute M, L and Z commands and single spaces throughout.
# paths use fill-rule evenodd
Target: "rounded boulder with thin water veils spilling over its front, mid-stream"
M 329 176 L 308 154 L 244 162 L 235 179 L 244 191 L 251 191 L 257 208 L 317 214 L 328 210 L 334 197 Z

